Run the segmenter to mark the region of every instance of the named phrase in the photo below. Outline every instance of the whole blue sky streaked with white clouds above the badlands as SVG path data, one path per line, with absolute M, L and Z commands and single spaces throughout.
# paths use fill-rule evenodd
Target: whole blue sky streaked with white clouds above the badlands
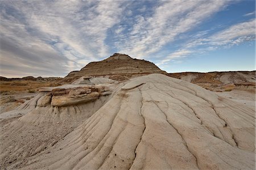
M 255 70 L 254 0 L 0 1 L 0 76 L 64 77 L 113 53 L 164 71 Z

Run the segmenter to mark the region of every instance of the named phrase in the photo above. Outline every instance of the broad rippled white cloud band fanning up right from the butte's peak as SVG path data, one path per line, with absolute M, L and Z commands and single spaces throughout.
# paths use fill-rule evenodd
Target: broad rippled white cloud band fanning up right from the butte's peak
M 152 16 L 137 15 L 135 23 L 118 49 L 138 58 L 158 52 L 178 35 L 192 30 L 229 1 L 163 1 Z M 171 10 L 170 10 L 171 9 Z M 205 10 L 207 9 L 207 10 Z

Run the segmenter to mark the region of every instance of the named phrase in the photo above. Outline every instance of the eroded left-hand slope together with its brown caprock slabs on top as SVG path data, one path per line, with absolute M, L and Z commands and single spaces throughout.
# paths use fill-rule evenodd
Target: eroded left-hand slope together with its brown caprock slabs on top
M 42 89 L 16 110 L 0 114 L 0 169 L 22 167 L 27 158 L 51 148 L 108 101 L 108 86 Z M 51 152 L 51 151 L 48 151 Z

